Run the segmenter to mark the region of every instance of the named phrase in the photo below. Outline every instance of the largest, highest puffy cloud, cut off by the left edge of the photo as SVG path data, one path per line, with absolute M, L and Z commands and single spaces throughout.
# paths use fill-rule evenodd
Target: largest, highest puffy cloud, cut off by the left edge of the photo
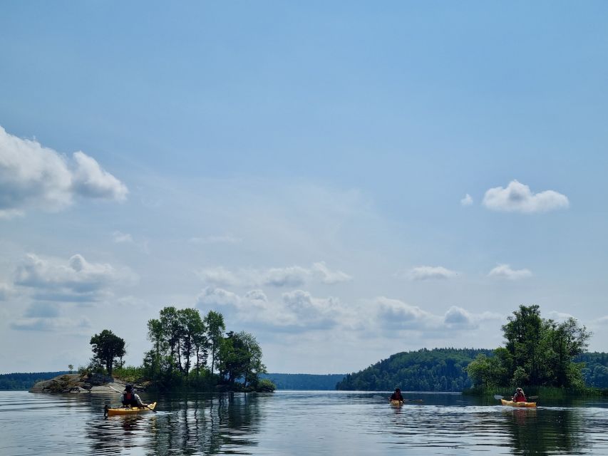
M 70 161 L 0 127 L 0 217 L 23 215 L 28 208 L 58 211 L 75 196 L 121 201 L 127 193 L 122 182 L 83 152 Z

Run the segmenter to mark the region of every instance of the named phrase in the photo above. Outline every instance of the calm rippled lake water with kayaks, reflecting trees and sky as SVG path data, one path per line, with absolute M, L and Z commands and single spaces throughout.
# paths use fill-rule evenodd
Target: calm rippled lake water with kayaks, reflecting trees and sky
M 460 394 L 188 394 L 103 417 L 115 394 L 0 391 L 0 455 L 608 455 L 608 401 L 497 405 Z M 542 406 L 541 406 L 542 405 Z

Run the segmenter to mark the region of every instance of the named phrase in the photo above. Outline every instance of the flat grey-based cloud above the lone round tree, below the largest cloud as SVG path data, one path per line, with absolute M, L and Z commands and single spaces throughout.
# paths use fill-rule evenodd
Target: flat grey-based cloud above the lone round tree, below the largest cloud
M 79 254 L 67 264 L 27 254 L 14 276 L 14 284 L 30 289 L 36 300 L 71 302 L 98 301 L 111 295 L 112 284 L 128 280 L 135 280 L 128 269 L 89 263 Z

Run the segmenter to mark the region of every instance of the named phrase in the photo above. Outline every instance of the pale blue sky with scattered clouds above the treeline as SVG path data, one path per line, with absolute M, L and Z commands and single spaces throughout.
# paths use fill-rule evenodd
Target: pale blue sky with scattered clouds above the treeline
M 605 1 L 27 1 L 0 14 L 0 373 L 139 366 L 165 306 L 269 372 L 608 351 Z

